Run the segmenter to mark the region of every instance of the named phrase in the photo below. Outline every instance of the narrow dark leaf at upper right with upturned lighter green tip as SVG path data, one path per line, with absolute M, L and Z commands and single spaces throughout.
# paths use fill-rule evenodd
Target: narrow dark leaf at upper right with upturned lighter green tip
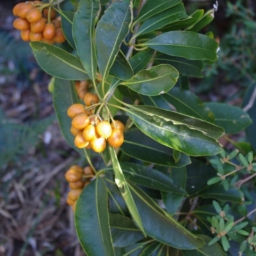
M 204 10 L 196 10 L 188 18 L 178 20 L 161 29 L 163 32 L 191 28 L 204 15 Z

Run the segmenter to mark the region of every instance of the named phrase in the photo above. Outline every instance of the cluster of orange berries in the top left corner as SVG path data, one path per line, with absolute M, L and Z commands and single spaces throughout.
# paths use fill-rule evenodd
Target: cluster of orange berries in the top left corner
M 41 1 L 16 4 L 13 15 L 18 18 L 13 21 L 13 27 L 20 30 L 20 37 L 24 41 L 63 43 L 65 36 L 61 29 L 60 17 L 56 18 L 57 13 L 51 7 L 43 6 Z

